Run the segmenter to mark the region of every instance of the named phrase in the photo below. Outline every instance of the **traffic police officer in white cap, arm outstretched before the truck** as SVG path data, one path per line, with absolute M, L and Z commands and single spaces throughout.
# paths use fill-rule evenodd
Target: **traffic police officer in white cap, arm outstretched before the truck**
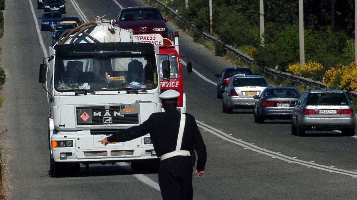
M 191 153 L 197 152 L 195 174 L 199 178 L 205 172 L 206 146 L 198 130 L 195 117 L 180 114 L 176 110 L 177 98 L 175 90 L 167 90 L 160 94 L 165 112 L 150 115 L 149 119 L 139 126 L 126 129 L 120 134 L 114 133 L 99 142 L 125 142 L 150 133 L 157 157 L 160 157 L 159 186 L 164 200 L 192 200 Z

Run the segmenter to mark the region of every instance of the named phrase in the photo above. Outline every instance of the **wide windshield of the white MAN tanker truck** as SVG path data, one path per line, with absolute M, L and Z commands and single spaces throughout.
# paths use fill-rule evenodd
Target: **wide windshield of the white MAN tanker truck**
M 158 85 L 155 57 L 57 57 L 57 91 L 154 89 Z

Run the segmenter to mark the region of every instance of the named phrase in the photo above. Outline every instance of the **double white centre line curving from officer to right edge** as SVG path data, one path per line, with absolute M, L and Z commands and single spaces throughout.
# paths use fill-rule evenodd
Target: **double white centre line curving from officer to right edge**
M 224 133 L 224 132 L 222 132 L 212 126 L 206 125 L 200 121 L 196 120 L 196 122 L 197 122 L 198 127 L 201 127 L 204 130 L 206 130 L 212 134 L 215 134 L 216 136 L 218 136 L 222 139 L 225 139 L 228 142 L 231 142 L 231 143 L 237 144 L 241 147 L 244 147 L 244 149 L 250 149 L 255 152 L 260 152 L 261 154 L 265 154 L 266 156 L 270 156 L 271 158 L 278 158 L 278 159 L 286 161 L 286 162 L 292 162 L 292 163 L 304 165 L 309 168 L 320 169 L 320 170 L 327 171 L 327 172 L 331 171 L 331 172 L 335 172 L 338 174 L 348 175 L 351 177 L 355 177 L 357 175 L 357 173 L 353 172 L 353 171 L 338 169 L 338 168 L 334 168 L 334 167 L 330 167 L 330 166 L 326 166 L 326 165 L 320 165 L 320 164 L 316 164 L 316 163 L 311 163 L 311 162 L 308 162 L 305 160 L 296 159 L 296 157 L 289 157 L 289 156 L 285 156 L 284 154 L 269 151 L 264 148 L 255 146 L 251 143 L 248 143 L 248 142 L 245 142 L 242 140 L 238 140 L 237 138 L 232 137 L 232 136 L 228 135 L 227 133 Z

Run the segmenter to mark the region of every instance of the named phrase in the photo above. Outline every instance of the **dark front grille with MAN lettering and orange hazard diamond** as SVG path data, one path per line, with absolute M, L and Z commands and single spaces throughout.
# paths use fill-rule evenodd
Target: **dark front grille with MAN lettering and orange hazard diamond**
M 106 110 L 104 106 L 77 107 L 76 111 L 77 125 L 116 125 L 139 123 L 139 113 L 120 112 L 120 105 L 110 106 L 109 110 Z

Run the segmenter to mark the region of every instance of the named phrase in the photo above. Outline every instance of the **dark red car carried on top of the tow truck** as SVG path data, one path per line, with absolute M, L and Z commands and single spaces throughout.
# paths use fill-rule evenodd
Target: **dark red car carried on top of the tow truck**
M 156 7 L 126 7 L 119 11 L 114 26 L 138 34 L 160 34 L 167 38 L 169 28 L 166 17 Z

